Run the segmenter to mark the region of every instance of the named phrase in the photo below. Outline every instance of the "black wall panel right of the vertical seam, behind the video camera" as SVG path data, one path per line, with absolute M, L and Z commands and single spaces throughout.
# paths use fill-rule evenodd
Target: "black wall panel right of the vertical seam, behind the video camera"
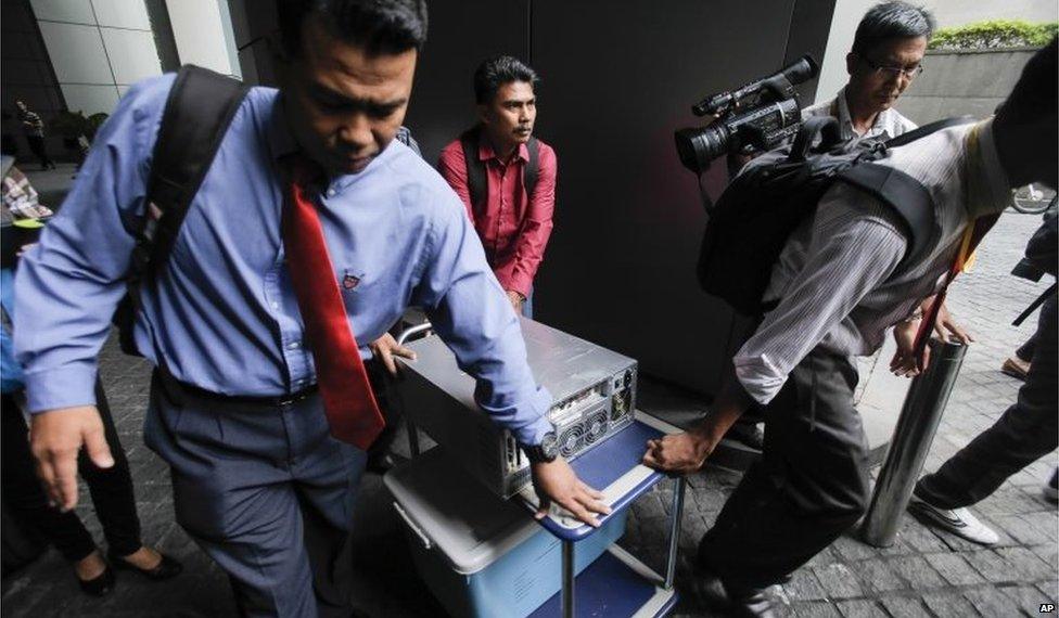
M 538 134 L 560 166 L 540 320 L 655 375 L 715 388 L 731 317 L 694 280 L 705 217 L 673 131 L 697 121 L 689 108 L 699 98 L 800 55 L 788 49 L 794 4 L 534 0 Z

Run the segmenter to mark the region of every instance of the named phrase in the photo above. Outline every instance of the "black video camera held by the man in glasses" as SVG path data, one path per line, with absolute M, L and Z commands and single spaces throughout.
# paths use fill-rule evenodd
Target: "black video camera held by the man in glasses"
M 705 127 L 676 132 L 680 163 L 702 173 L 710 162 L 723 154 L 751 154 L 783 145 L 802 125 L 802 106 L 794 87 L 819 72 L 813 56 L 805 54 L 774 75 L 696 103 L 692 114 L 716 119 Z

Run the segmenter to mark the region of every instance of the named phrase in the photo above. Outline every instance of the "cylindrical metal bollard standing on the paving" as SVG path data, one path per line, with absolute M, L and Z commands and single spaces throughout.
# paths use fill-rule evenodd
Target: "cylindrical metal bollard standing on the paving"
M 877 548 L 889 548 L 897 537 L 901 515 L 908 507 L 967 353 L 967 346 L 957 342 L 932 339 L 930 346 L 930 365 L 913 378 L 860 530 L 864 540 Z

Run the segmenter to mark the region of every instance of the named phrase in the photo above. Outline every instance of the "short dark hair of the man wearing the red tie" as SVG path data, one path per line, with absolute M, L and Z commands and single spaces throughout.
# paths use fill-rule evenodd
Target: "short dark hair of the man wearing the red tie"
M 312 14 L 340 39 L 362 46 L 370 54 L 420 51 L 426 42 L 424 0 L 278 0 L 283 48 L 302 54 L 302 25 Z

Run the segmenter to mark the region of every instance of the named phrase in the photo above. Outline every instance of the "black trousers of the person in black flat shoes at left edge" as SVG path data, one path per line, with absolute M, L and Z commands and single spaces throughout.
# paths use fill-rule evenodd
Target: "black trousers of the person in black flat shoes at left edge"
M 95 397 L 106 443 L 114 456 L 114 466 L 95 467 L 81 451 L 78 472 L 88 484 L 95 514 L 103 525 L 103 535 L 112 553 L 128 555 L 140 549 L 140 519 L 136 514 L 132 494 L 132 477 L 129 462 L 111 417 L 102 386 L 97 383 Z M 48 505 L 48 497 L 40 486 L 29 451 L 29 433 L 15 398 L 3 396 L 0 409 L 0 438 L 2 438 L 3 465 L 0 467 L 0 487 L 4 503 L 25 526 L 33 526 L 55 545 L 63 557 L 77 562 L 95 551 L 92 536 L 73 512 L 61 513 Z

